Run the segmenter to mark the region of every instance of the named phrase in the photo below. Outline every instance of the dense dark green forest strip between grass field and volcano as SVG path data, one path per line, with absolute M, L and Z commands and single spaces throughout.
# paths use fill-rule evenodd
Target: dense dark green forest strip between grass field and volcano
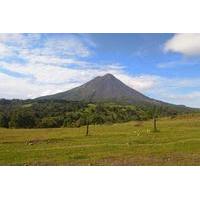
M 127 105 L 86 103 L 66 100 L 0 100 L 0 127 L 55 128 L 80 127 L 147 120 L 156 113 L 171 116 L 194 111 L 183 106 Z

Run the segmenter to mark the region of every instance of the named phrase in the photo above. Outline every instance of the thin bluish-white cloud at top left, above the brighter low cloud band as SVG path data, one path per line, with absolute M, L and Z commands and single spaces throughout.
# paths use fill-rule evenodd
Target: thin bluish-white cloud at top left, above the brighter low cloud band
M 63 34 L 60 37 L 56 37 L 51 34 L 42 41 L 40 39 L 41 34 L 0 34 L 0 43 L 11 47 L 19 56 L 34 54 L 88 57 L 92 54 L 89 48 L 91 46 L 89 40 L 82 41 L 76 35 Z

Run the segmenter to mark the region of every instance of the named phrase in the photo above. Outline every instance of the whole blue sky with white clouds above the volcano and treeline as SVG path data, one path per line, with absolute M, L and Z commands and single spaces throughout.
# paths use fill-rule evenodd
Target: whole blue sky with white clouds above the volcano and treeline
M 200 107 L 200 34 L 0 34 L 0 98 L 35 98 L 112 73 L 159 100 Z

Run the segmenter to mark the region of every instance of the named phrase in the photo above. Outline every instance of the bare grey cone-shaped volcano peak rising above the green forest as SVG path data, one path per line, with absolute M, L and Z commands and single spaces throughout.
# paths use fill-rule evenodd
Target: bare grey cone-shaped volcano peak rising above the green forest
M 54 95 L 40 97 L 39 99 L 65 99 L 69 101 L 125 101 L 129 103 L 137 102 L 157 102 L 138 91 L 128 87 L 112 74 L 98 76 L 82 86 Z

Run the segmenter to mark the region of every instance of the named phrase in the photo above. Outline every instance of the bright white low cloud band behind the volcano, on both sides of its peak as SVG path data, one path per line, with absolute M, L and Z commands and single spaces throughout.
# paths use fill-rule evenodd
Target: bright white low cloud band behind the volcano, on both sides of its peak
M 14 78 L 0 73 L 2 83 L 0 98 L 31 98 L 54 94 L 79 86 L 106 73 L 112 73 L 130 87 L 141 92 L 155 87 L 158 82 L 155 76 L 129 76 L 121 69 L 115 69 L 114 65 L 111 65 L 111 68 L 105 65 L 99 69 L 71 69 L 41 64 L 34 66 L 7 64 L 5 68 L 26 75 L 26 78 Z

